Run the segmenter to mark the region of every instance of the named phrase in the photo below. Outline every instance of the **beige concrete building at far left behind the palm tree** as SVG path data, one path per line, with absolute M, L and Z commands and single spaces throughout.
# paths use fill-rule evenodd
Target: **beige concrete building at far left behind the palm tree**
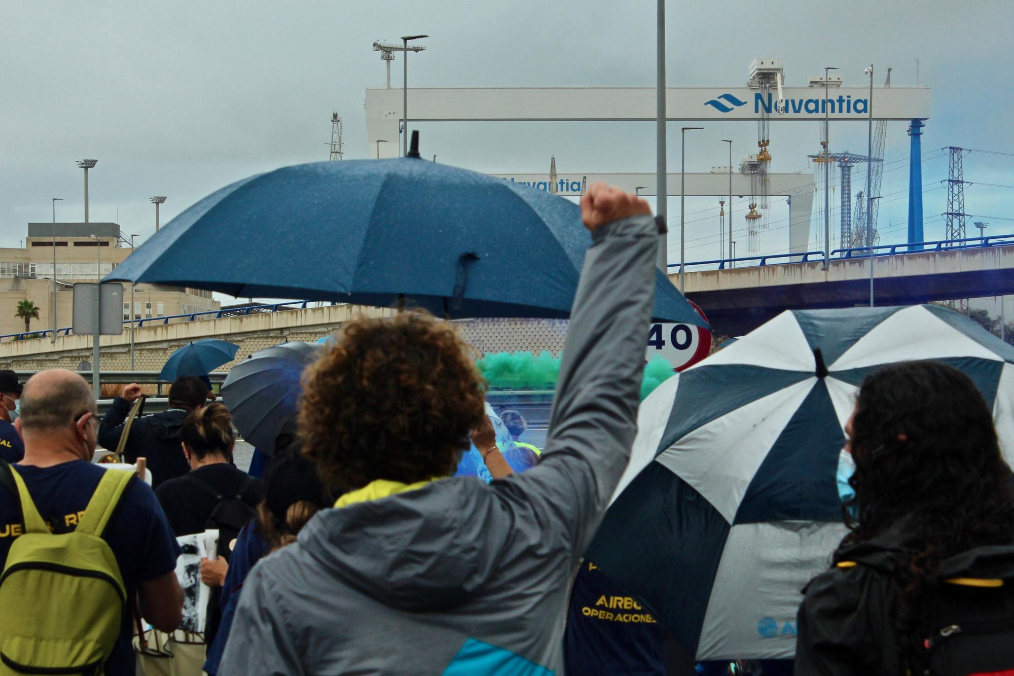
M 58 329 L 71 326 L 74 284 L 95 282 L 133 251 L 118 223 L 28 223 L 23 249 L 0 248 L 0 336 L 24 331 L 24 321 L 14 316 L 21 300 L 39 308 L 39 319 L 30 322 L 32 331 L 54 328 L 54 247 Z M 131 319 L 130 286 L 124 284 L 124 321 Z M 158 284 L 138 284 L 134 289 L 134 319 L 219 308 L 211 291 Z

